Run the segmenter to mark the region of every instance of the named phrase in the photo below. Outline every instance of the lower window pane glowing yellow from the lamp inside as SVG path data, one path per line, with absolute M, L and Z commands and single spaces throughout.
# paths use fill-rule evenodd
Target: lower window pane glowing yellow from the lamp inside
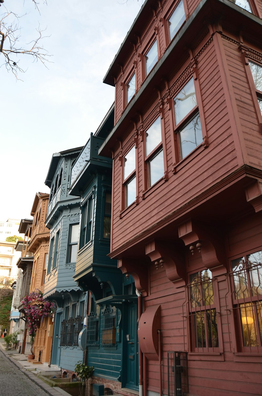
M 240 305 L 240 317 L 244 346 L 257 346 L 257 332 L 253 305 Z

